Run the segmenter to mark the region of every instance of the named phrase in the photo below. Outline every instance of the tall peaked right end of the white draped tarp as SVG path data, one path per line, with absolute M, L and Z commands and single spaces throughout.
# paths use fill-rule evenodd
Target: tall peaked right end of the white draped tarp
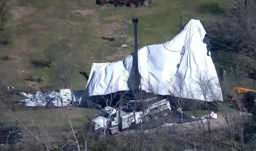
M 190 28 L 181 52 L 181 61 L 172 84 L 175 89 L 172 92 L 185 98 L 223 101 L 214 63 L 206 55 L 206 44 L 202 42 L 206 32 L 199 20 L 195 20 Z M 180 87 L 183 94 L 179 93 Z

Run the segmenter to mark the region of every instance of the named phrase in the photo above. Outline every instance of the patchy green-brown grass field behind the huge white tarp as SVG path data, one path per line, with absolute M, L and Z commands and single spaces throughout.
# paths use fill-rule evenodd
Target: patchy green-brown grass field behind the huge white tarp
M 209 0 L 207 0 L 208 2 Z M 122 20 L 139 18 L 139 47 L 164 43 L 179 31 L 180 14 L 185 21 L 191 18 L 203 22 L 209 15 L 199 13 L 205 0 L 158 0 L 149 7 L 115 8 L 111 4 L 99 6 L 94 0 L 9 0 L 10 16 L 5 34 L 10 37 L 8 45 L 1 45 L 1 57 L 9 53 L 9 60 L 1 59 L 1 78 L 7 85 L 20 90 L 53 90 L 61 82 L 56 77 L 57 59 L 67 60 L 90 71 L 92 63 L 122 60 L 132 48 L 120 48 Z M 133 41 L 133 26 L 129 25 L 129 41 Z M 115 38 L 116 42 L 102 37 Z M 50 68 L 39 68 L 34 61 L 47 59 L 50 50 L 55 56 Z M 81 68 L 72 67 L 73 88 L 85 88 L 86 79 L 79 74 Z M 42 83 L 29 83 L 29 76 L 47 76 Z

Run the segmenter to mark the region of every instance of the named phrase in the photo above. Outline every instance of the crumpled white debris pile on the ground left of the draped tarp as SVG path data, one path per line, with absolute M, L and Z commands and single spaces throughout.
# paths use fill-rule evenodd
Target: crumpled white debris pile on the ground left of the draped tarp
M 53 92 L 42 93 L 37 91 L 35 94 L 19 92 L 22 97 L 26 99 L 21 100 L 21 104 L 25 106 L 46 106 L 48 101 L 54 103 L 55 106 L 61 107 L 71 105 L 72 94 L 70 89 L 55 90 Z M 76 97 L 73 93 L 74 102 L 80 102 L 80 97 Z

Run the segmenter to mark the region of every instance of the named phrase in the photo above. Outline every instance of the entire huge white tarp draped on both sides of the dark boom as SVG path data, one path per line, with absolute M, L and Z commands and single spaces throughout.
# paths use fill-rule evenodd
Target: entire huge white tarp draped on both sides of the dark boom
M 202 42 L 205 34 L 200 21 L 192 19 L 172 41 L 139 49 L 141 88 L 154 94 L 223 101 L 215 66 Z M 133 56 L 114 63 L 94 63 L 85 93 L 105 95 L 131 89 Z M 206 96 L 203 91 L 208 92 Z

